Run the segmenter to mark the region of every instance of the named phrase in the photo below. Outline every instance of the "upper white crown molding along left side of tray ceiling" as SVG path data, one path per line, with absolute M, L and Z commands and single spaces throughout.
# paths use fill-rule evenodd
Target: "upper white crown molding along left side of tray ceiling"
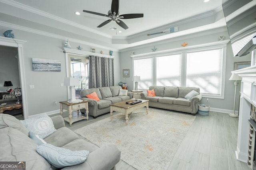
M 108 35 L 108 34 L 104 34 L 100 31 L 96 31 L 94 29 L 91 29 L 89 27 L 86 27 L 84 25 L 81 25 L 81 24 L 78 24 L 78 23 L 75 23 L 75 22 L 72 22 L 72 21 L 69 21 L 69 20 L 66 20 L 66 19 L 63 19 L 63 18 L 60 18 L 58 16 L 54 16 L 52 14 L 49 14 L 47 12 L 43 12 L 41 10 L 38 10 L 36 8 L 32 8 L 30 6 L 26 6 L 24 4 L 21 4 L 19 2 L 16 2 L 16 1 L 13 1 L 13 0 L 1 0 L 1 2 L 5 3 L 5 4 L 8 4 L 8 5 L 11 5 L 11 6 L 14 6 L 16 8 L 20 8 L 22 10 L 26 10 L 28 12 L 32 12 L 34 14 L 38 14 L 40 16 L 44 16 L 46 18 L 50 18 L 52 20 L 56 20 L 56 21 L 59 21 L 59 22 L 62 22 L 62 23 L 65 23 L 65 24 L 68 24 L 68 25 L 71 25 L 71 26 L 74 26 L 74 27 L 77 27 L 79 29 L 83 29 L 83 30 L 86 30 L 86 31 L 89 31 L 89 32 L 92 32 L 92 33 L 96 33 L 98 35 L 101 35 L 101 36 L 104 36 L 104 37 L 107 37 L 107 38 L 112 38 L 111 35 Z

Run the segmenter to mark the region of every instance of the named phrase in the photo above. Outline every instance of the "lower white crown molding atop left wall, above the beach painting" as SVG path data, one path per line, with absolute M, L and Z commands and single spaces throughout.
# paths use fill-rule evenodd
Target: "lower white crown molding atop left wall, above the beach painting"
M 110 47 L 106 47 L 106 46 L 102 46 L 102 45 L 98 45 L 98 44 L 94 44 L 94 43 L 89 43 L 87 41 L 81 41 L 81 40 L 70 38 L 70 37 L 56 35 L 56 34 L 53 34 L 53 33 L 48 33 L 48 32 L 45 32 L 45 31 L 40 31 L 40 30 L 37 30 L 37 29 L 32 29 L 32 28 L 12 24 L 12 23 L 7 23 L 7 22 L 4 22 L 4 21 L 0 21 L 0 25 L 4 26 L 4 27 L 19 29 L 19 30 L 22 30 L 22 31 L 30 32 L 30 33 L 44 35 L 44 36 L 47 36 L 47 37 L 62 39 L 64 41 L 66 41 L 68 39 L 68 41 L 70 41 L 70 42 L 84 44 L 84 45 L 88 45 L 88 46 L 91 46 L 91 47 L 98 47 L 98 48 L 101 48 L 101 49 L 110 49 Z M 111 48 L 111 49 L 113 49 L 113 48 Z M 113 51 L 119 51 L 119 50 L 118 49 L 113 49 Z

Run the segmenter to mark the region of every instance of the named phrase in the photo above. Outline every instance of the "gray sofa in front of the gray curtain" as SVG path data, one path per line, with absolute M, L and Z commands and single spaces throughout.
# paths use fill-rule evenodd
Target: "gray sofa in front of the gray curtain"
M 122 90 L 121 86 L 83 89 L 80 92 L 80 99 L 88 100 L 89 115 L 96 118 L 98 115 L 110 112 L 110 104 L 132 99 L 132 92 L 127 92 L 127 96 L 118 96 L 120 89 Z M 98 98 L 100 99 L 98 102 L 96 100 L 86 98 L 86 95 L 91 94 L 92 92 L 96 92 L 98 95 Z M 85 109 L 80 109 L 80 111 L 85 113 Z

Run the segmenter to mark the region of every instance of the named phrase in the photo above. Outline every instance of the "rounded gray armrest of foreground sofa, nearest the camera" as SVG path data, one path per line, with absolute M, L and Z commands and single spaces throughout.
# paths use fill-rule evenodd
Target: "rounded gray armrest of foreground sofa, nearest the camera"
M 110 170 L 120 161 L 121 151 L 114 143 L 108 143 L 90 152 L 86 161 L 62 170 Z

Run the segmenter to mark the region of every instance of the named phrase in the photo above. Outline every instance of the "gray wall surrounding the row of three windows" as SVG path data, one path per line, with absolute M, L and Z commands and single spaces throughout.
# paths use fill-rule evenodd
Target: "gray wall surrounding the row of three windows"
M 194 35 L 187 35 L 186 37 L 178 37 L 172 39 L 172 41 L 160 41 L 158 43 L 151 43 L 148 45 L 137 46 L 135 48 L 127 49 L 126 51 L 122 51 L 121 56 L 121 70 L 122 69 L 130 69 L 130 78 L 121 77 L 120 81 L 127 83 L 129 90 L 132 90 L 132 76 L 133 76 L 133 68 L 132 68 L 132 57 L 130 57 L 131 51 L 134 51 L 135 55 L 143 54 L 143 53 L 150 53 L 152 52 L 152 48 L 155 46 L 157 48 L 156 51 L 168 50 L 168 49 L 175 49 L 179 48 L 180 45 L 185 41 L 188 43 L 187 46 L 191 45 L 199 45 L 204 43 L 211 43 L 218 41 L 218 37 L 220 35 L 225 35 L 229 37 L 228 32 L 225 31 L 226 28 L 223 28 L 222 31 L 216 33 L 210 33 L 208 31 L 204 33 L 196 33 Z M 217 31 L 217 30 L 216 30 Z M 234 107 L 234 81 L 228 80 L 231 76 L 231 71 L 234 70 L 234 62 L 241 62 L 241 61 L 250 61 L 250 55 L 245 57 L 233 57 L 231 44 L 227 44 L 227 55 L 226 55 L 226 75 L 225 76 L 225 92 L 224 92 L 224 99 L 216 99 L 216 98 L 209 98 L 209 102 L 206 102 L 206 98 L 202 98 L 201 103 L 210 105 L 211 108 L 220 109 L 223 112 L 230 112 L 233 110 Z M 238 110 L 238 102 L 239 102 L 239 90 L 240 90 L 240 82 L 237 87 L 237 95 L 236 95 L 236 110 Z

